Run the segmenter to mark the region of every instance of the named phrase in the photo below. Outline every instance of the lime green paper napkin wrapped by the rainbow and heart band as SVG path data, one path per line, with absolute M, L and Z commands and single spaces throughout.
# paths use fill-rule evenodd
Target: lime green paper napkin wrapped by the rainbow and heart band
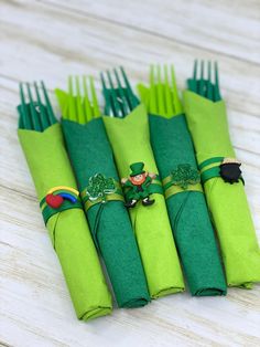
M 43 133 L 18 130 L 19 139 L 41 201 L 50 189 L 67 186 L 77 189 L 64 147 L 59 124 Z M 111 312 L 98 255 L 80 208 L 52 215 L 47 230 L 79 319 L 88 320 Z

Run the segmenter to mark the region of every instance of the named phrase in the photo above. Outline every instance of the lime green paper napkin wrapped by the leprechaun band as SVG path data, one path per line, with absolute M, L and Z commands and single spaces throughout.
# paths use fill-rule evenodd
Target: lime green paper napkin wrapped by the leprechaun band
M 149 137 L 149 122 L 143 105 L 126 118 L 104 117 L 121 178 L 130 174 L 130 165 L 144 162 L 144 169 L 158 174 Z M 164 197 L 151 196 L 154 204 L 140 202 L 130 209 L 132 225 L 142 257 L 150 295 L 155 298 L 184 291 L 182 271 L 172 236 Z

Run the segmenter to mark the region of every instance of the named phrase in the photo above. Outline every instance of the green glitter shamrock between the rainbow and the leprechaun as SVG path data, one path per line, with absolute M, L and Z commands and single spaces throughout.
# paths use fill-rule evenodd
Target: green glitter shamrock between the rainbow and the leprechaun
M 89 178 L 86 193 L 90 201 L 100 199 L 106 202 L 107 194 L 116 191 L 116 185 L 112 178 L 106 178 L 102 174 L 96 174 Z

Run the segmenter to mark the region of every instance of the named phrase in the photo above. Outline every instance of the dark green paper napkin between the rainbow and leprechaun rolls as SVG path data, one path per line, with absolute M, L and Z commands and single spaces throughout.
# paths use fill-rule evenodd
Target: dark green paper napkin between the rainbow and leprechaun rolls
M 112 151 L 101 117 L 87 124 L 62 120 L 67 150 L 75 170 L 79 191 L 89 178 L 102 174 L 118 181 Z M 91 231 L 100 203 L 87 210 Z M 109 201 L 100 213 L 96 235 L 119 307 L 139 307 L 150 301 L 139 250 L 128 211 L 122 201 Z

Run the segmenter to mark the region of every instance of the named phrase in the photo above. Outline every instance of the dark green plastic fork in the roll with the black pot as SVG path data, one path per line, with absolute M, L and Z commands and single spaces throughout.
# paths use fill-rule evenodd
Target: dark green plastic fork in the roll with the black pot
M 197 60 L 194 62 L 193 77 L 187 80 L 187 88 L 201 96 L 204 96 L 213 102 L 218 102 L 221 99 L 219 92 L 219 78 L 218 78 L 218 65 L 217 62 L 213 64 L 207 62 L 206 74 L 204 77 L 204 61 L 198 64 Z M 201 72 L 199 72 L 201 66 Z M 214 81 L 212 75 L 214 75 Z

